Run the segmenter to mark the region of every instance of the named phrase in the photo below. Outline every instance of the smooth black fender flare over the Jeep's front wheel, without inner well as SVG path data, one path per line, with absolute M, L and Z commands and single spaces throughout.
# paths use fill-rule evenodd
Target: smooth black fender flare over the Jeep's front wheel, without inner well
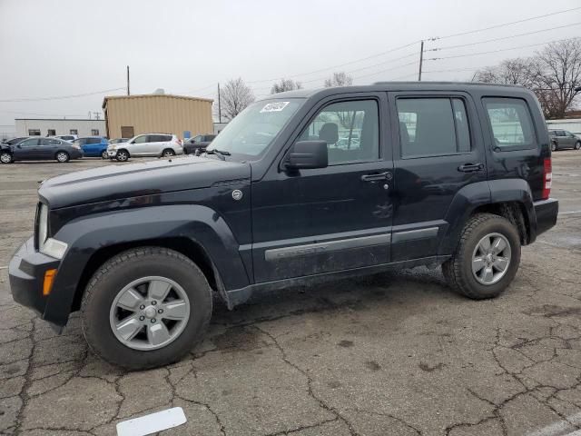
M 96 213 L 64 224 L 53 237 L 67 243 L 68 249 L 54 279 L 44 318 L 62 325 L 72 310 L 86 264 L 97 251 L 119 243 L 188 238 L 210 256 L 226 289 L 250 284 L 239 253 L 240 245 L 230 227 L 219 213 L 199 204 Z

